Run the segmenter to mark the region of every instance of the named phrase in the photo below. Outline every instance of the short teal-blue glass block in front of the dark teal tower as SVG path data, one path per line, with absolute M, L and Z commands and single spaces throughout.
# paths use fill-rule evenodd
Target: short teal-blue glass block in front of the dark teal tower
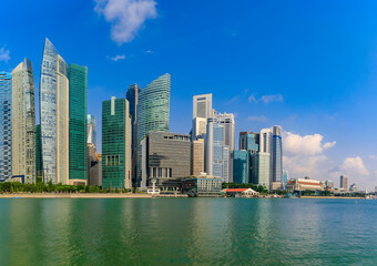
M 251 153 L 248 151 L 233 151 L 233 182 L 237 184 L 251 183 Z

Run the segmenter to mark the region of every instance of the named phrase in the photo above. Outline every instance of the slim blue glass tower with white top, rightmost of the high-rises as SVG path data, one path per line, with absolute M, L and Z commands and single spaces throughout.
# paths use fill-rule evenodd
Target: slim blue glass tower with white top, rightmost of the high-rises
M 274 126 L 271 145 L 272 182 L 283 181 L 282 127 Z

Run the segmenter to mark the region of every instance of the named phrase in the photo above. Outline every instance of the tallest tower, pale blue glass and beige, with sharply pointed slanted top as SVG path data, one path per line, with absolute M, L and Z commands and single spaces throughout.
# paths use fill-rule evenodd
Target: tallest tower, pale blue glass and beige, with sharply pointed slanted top
M 67 64 L 45 39 L 41 65 L 39 108 L 43 180 L 69 183 L 69 81 Z

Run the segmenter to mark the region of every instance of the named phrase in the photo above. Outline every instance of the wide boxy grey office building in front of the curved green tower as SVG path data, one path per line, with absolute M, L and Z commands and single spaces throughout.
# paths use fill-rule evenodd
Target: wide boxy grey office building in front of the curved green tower
M 172 178 L 184 178 L 191 172 L 191 142 L 187 134 L 150 132 L 144 139 L 142 153 L 143 184 L 151 185 L 156 180 L 156 186 Z M 142 187 L 145 188 L 145 187 Z

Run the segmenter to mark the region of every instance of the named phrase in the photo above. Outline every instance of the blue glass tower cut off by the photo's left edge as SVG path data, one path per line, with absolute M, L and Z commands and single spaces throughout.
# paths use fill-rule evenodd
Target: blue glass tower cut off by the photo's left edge
M 0 72 L 0 182 L 12 174 L 12 81 L 11 74 Z

